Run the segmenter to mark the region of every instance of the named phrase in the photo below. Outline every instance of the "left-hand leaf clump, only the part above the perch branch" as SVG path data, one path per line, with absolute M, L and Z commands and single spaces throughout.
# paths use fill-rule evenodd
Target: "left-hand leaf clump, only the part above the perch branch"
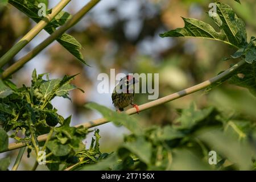
M 63 123 L 64 118 L 57 114 L 51 100 L 55 96 L 68 98 L 68 91 L 76 87 L 69 84 L 74 76 L 63 79 L 43 79 L 45 74 L 32 73 L 31 86 L 17 88 L 10 80 L 4 81 L 8 89 L 4 89 L 0 102 L 0 123 L 6 131 L 21 131 L 26 137 L 31 135 L 33 126 L 37 135 L 46 134 L 51 126 Z M 15 135 L 13 136 L 15 137 Z M 16 138 L 18 139 L 18 138 Z M 27 140 L 24 138 L 23 140 Z

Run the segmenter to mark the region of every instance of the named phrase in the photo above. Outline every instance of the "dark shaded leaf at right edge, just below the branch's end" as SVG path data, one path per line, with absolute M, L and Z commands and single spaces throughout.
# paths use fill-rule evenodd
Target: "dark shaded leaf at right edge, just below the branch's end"
M 256 97 L 256 61 L 245 64 L 229 79 L 229 84 L 242 86 Z

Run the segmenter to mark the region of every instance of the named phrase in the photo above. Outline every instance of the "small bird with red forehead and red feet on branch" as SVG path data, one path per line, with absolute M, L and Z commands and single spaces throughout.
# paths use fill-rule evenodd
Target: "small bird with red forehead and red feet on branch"
M 139 114 L 138 105 L 133 103 L 134 85 L 137 82 L 138 80 L 136 80 L 133 76 L 126 75 L 125 77 L 121 78 L 121 80 L 115 86 L 112 93 L 112 101 L 115 109 L 118 112 L 123 111 L 124 107 L 132 105 L 136 108 L 137 113 Z M 123 86 L 125 87 L 123 88 Z

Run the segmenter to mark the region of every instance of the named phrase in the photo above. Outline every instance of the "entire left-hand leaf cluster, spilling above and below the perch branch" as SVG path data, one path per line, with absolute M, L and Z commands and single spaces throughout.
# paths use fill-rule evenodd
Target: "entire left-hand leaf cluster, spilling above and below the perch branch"
M 69 164 L 68 161 L 77 152 L 85 150 L 82 140 L 88 130 L 83 126 L 69 126 L 71 117 L 64 119 L 51 104 L 55 97 L 69 98 L 69 91 L 76 89 L 70 84 L 74 77 L 49 79 L 48 74 L 37 75 L 34 70 L 31 86 L 18 88 L 10 80 L 1 81 L 0 151 L 8 148 L 8 131 L 16 142 L 27 144 L 28 157 L 32 150 L 36 155 L 40 150 L 46 151 L 49 169 L 58 169 L 59 164 Z M 48 133 L 47 142 L 38 141 L 39 135 Z

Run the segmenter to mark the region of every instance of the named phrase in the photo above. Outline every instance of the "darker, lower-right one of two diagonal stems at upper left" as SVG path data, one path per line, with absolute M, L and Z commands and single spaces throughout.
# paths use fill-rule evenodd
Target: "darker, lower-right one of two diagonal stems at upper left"
M 59 29 L 57 29 L 55 32 L 53 32 L 46 40 L 44 40 L 42 43 L 40 43 L 38 46 L 36 46 L 32 51 L 28 52 L 27 55 L 23 56 L 21 59 L 16 61 L 13 65 L 11 65 L 9 68 L 7 68 L 2 73 L 2 78 L 5 79 L 12 75 L 14 72 L 18 71 L 20 68 L 23 67 L 24 64 L 26 64 L 29 60 L 31 60 L 33 57 L 38 55 L 39 52 L 41 52 L 44 48 L 46 48 L 49 44 L 51 44 L 54 40 L 59 38 L 65 31 L 67 31 L 69 28 L 74 26 L 79 20 L 84 16 L 90 9 L 92 9 L 100 0 L 91 0 L 87 5 L 82 7 L 82 9 L 77 12 L 75 15 L 72 16 L 71 19 L 68 20 L 63 26 L 61 26 Z

